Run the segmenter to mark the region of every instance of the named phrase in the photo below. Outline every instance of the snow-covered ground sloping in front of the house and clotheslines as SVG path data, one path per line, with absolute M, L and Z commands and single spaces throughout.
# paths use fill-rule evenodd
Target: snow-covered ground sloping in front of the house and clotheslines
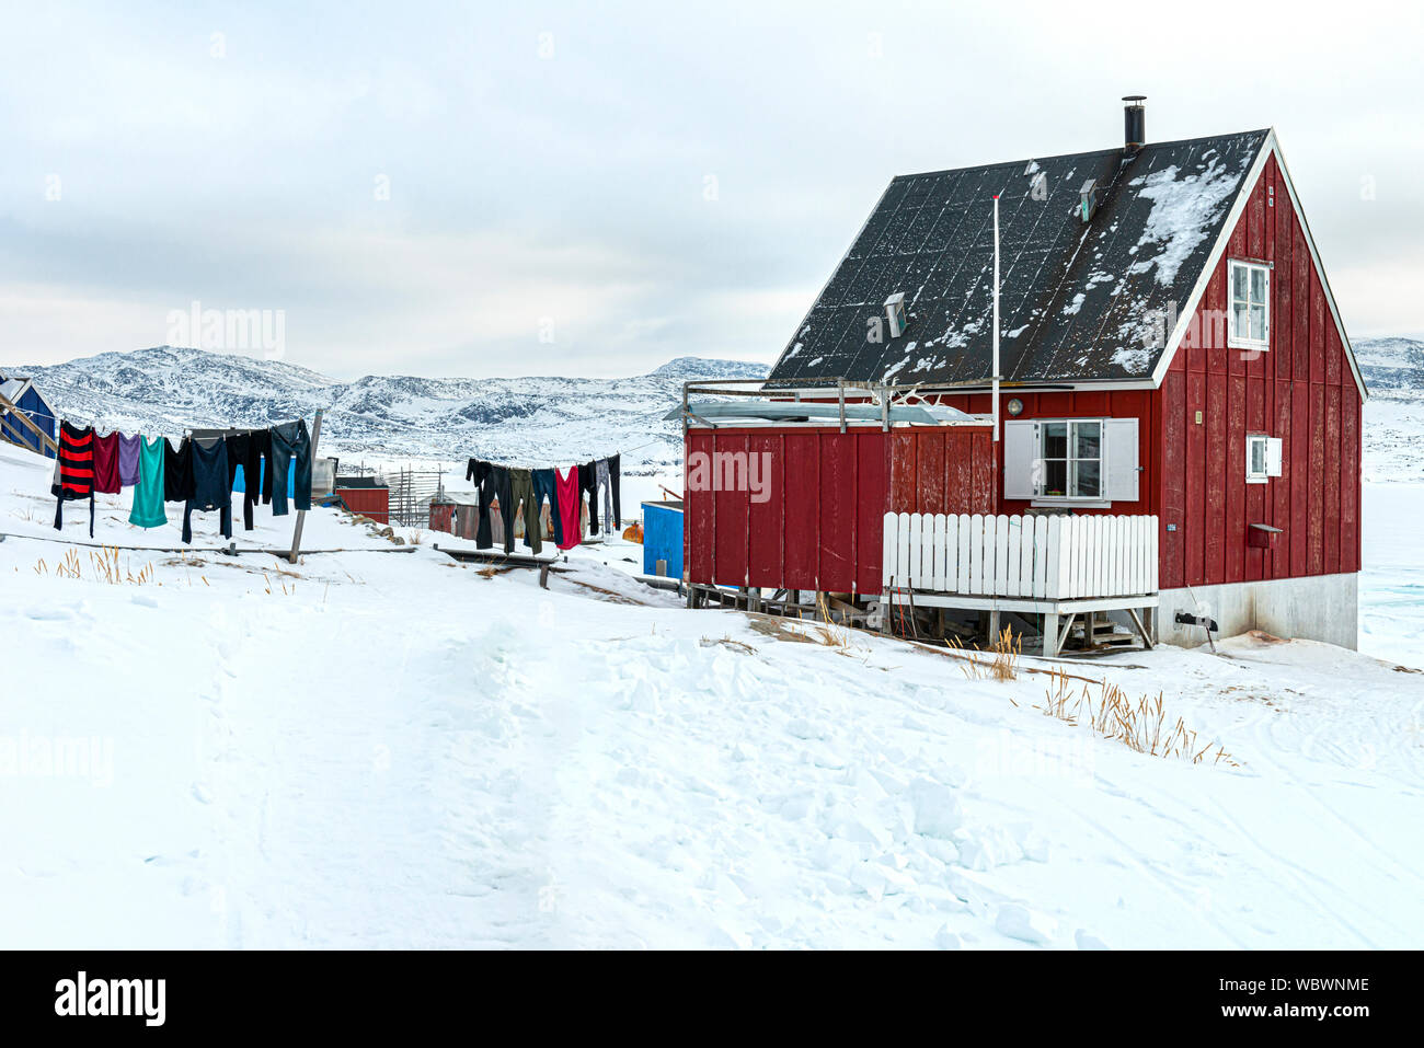
M 0 947 L 1424 933 L 1424 488 L 1366 498 L 1378 658 L 1243 638 L 1068 664 L 1162 692 L 1230 766 L 1045 716 L 1038 661 L 971 681 L 897 641 L 688 612 L 618 544 L 543 591 L 315 511 L 306 545 L 352 552 L 130 552 L 151 581 L 111 584 L 80 550 L 58 577 L 47 467 L 0 447 L 0 531 L 23 535 L 0 543 Z M 178 544 L 127 503 L 101 497 L 100 540 Z M 239 545 L 289 541 L 258 520 Z M 67 507 L 64 537 L 85 530 Z

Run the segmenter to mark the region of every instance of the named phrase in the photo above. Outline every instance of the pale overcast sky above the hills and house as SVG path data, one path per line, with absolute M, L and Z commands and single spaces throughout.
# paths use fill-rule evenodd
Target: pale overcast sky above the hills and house
M 1274 125 L 1351 336 L 1424 332 L 1407 4 L 3 3 L 0 363 L 194 302 L 337 377 L 772 360 L 893 175 L 1118 145 L 1131 93 Z

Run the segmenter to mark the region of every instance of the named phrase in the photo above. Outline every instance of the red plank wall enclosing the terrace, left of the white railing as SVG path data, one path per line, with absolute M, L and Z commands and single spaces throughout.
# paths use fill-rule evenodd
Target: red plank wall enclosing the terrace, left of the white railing
M 695 490 L 693 454 L 766 453 L 770 498 Z M 691 582 L 880 592 L 883 517 L 994 510 L 984 427 L 688 431 L 684 565 Z

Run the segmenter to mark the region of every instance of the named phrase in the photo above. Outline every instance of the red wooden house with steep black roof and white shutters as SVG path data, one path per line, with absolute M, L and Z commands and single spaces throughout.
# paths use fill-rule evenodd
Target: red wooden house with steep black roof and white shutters
M 1146 144 L 1129 101 L 1122 148 L 890 182 L 768 390 L 971 417 L 693 424 L 776 496 L 689 483 L 689 581 L 879 592 L 886 513 L 1151 515 L 1158 639 L 1356 645 L 1366 387 L 1276 134 Z

